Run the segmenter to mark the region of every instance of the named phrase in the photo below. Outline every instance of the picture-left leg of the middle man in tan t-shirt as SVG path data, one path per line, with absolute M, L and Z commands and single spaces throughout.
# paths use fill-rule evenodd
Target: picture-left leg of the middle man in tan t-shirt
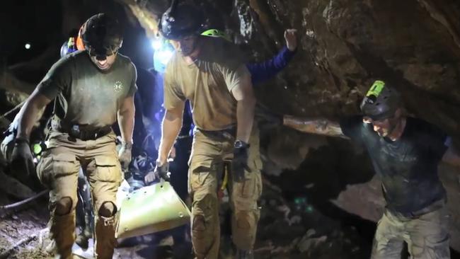
M 216 259 L 219 253 L 219 203 L 217 200 L 217 144 L 195 133 L 190 157 L 189 188 L 192 197 L 192 245 L 198 259 Z

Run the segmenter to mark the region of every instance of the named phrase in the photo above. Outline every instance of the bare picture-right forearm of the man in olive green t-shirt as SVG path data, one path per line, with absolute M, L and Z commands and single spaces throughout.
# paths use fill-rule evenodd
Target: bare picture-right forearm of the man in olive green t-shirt
M 117 111 L 118 125 L 122 134 L 122 140 L 132 144 L 132 131 L 134 130 L 134 96 L 129 96 L 122 101 Z

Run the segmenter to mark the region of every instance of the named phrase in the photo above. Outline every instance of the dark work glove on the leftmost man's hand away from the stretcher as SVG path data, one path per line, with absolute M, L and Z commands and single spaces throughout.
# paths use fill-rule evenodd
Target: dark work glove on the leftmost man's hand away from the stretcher
M 28 139 L 15 139 L 13 152 L 11 153 L 11 171 L 16 173 L 18 179 L 23 183 L 27 182 L 31 173 L 35 173 L 35 165 Z

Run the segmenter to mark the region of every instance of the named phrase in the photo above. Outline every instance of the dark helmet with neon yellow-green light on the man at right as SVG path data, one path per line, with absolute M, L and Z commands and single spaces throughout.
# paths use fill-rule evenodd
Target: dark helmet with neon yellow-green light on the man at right
M 372 84 L 361 102 L 360 108 L 364 116 L 372 120 L 384 120 L 393 117 L 401 106 L 401 95 L 393 88 L 377 80 Z

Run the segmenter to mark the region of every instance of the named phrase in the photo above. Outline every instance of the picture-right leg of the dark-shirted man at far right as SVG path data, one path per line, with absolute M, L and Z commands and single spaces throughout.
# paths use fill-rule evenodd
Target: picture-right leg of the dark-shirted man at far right
M 445 207 L 408 222 L 410 258 L 450 258 L 448 226 L 449 218 Z

